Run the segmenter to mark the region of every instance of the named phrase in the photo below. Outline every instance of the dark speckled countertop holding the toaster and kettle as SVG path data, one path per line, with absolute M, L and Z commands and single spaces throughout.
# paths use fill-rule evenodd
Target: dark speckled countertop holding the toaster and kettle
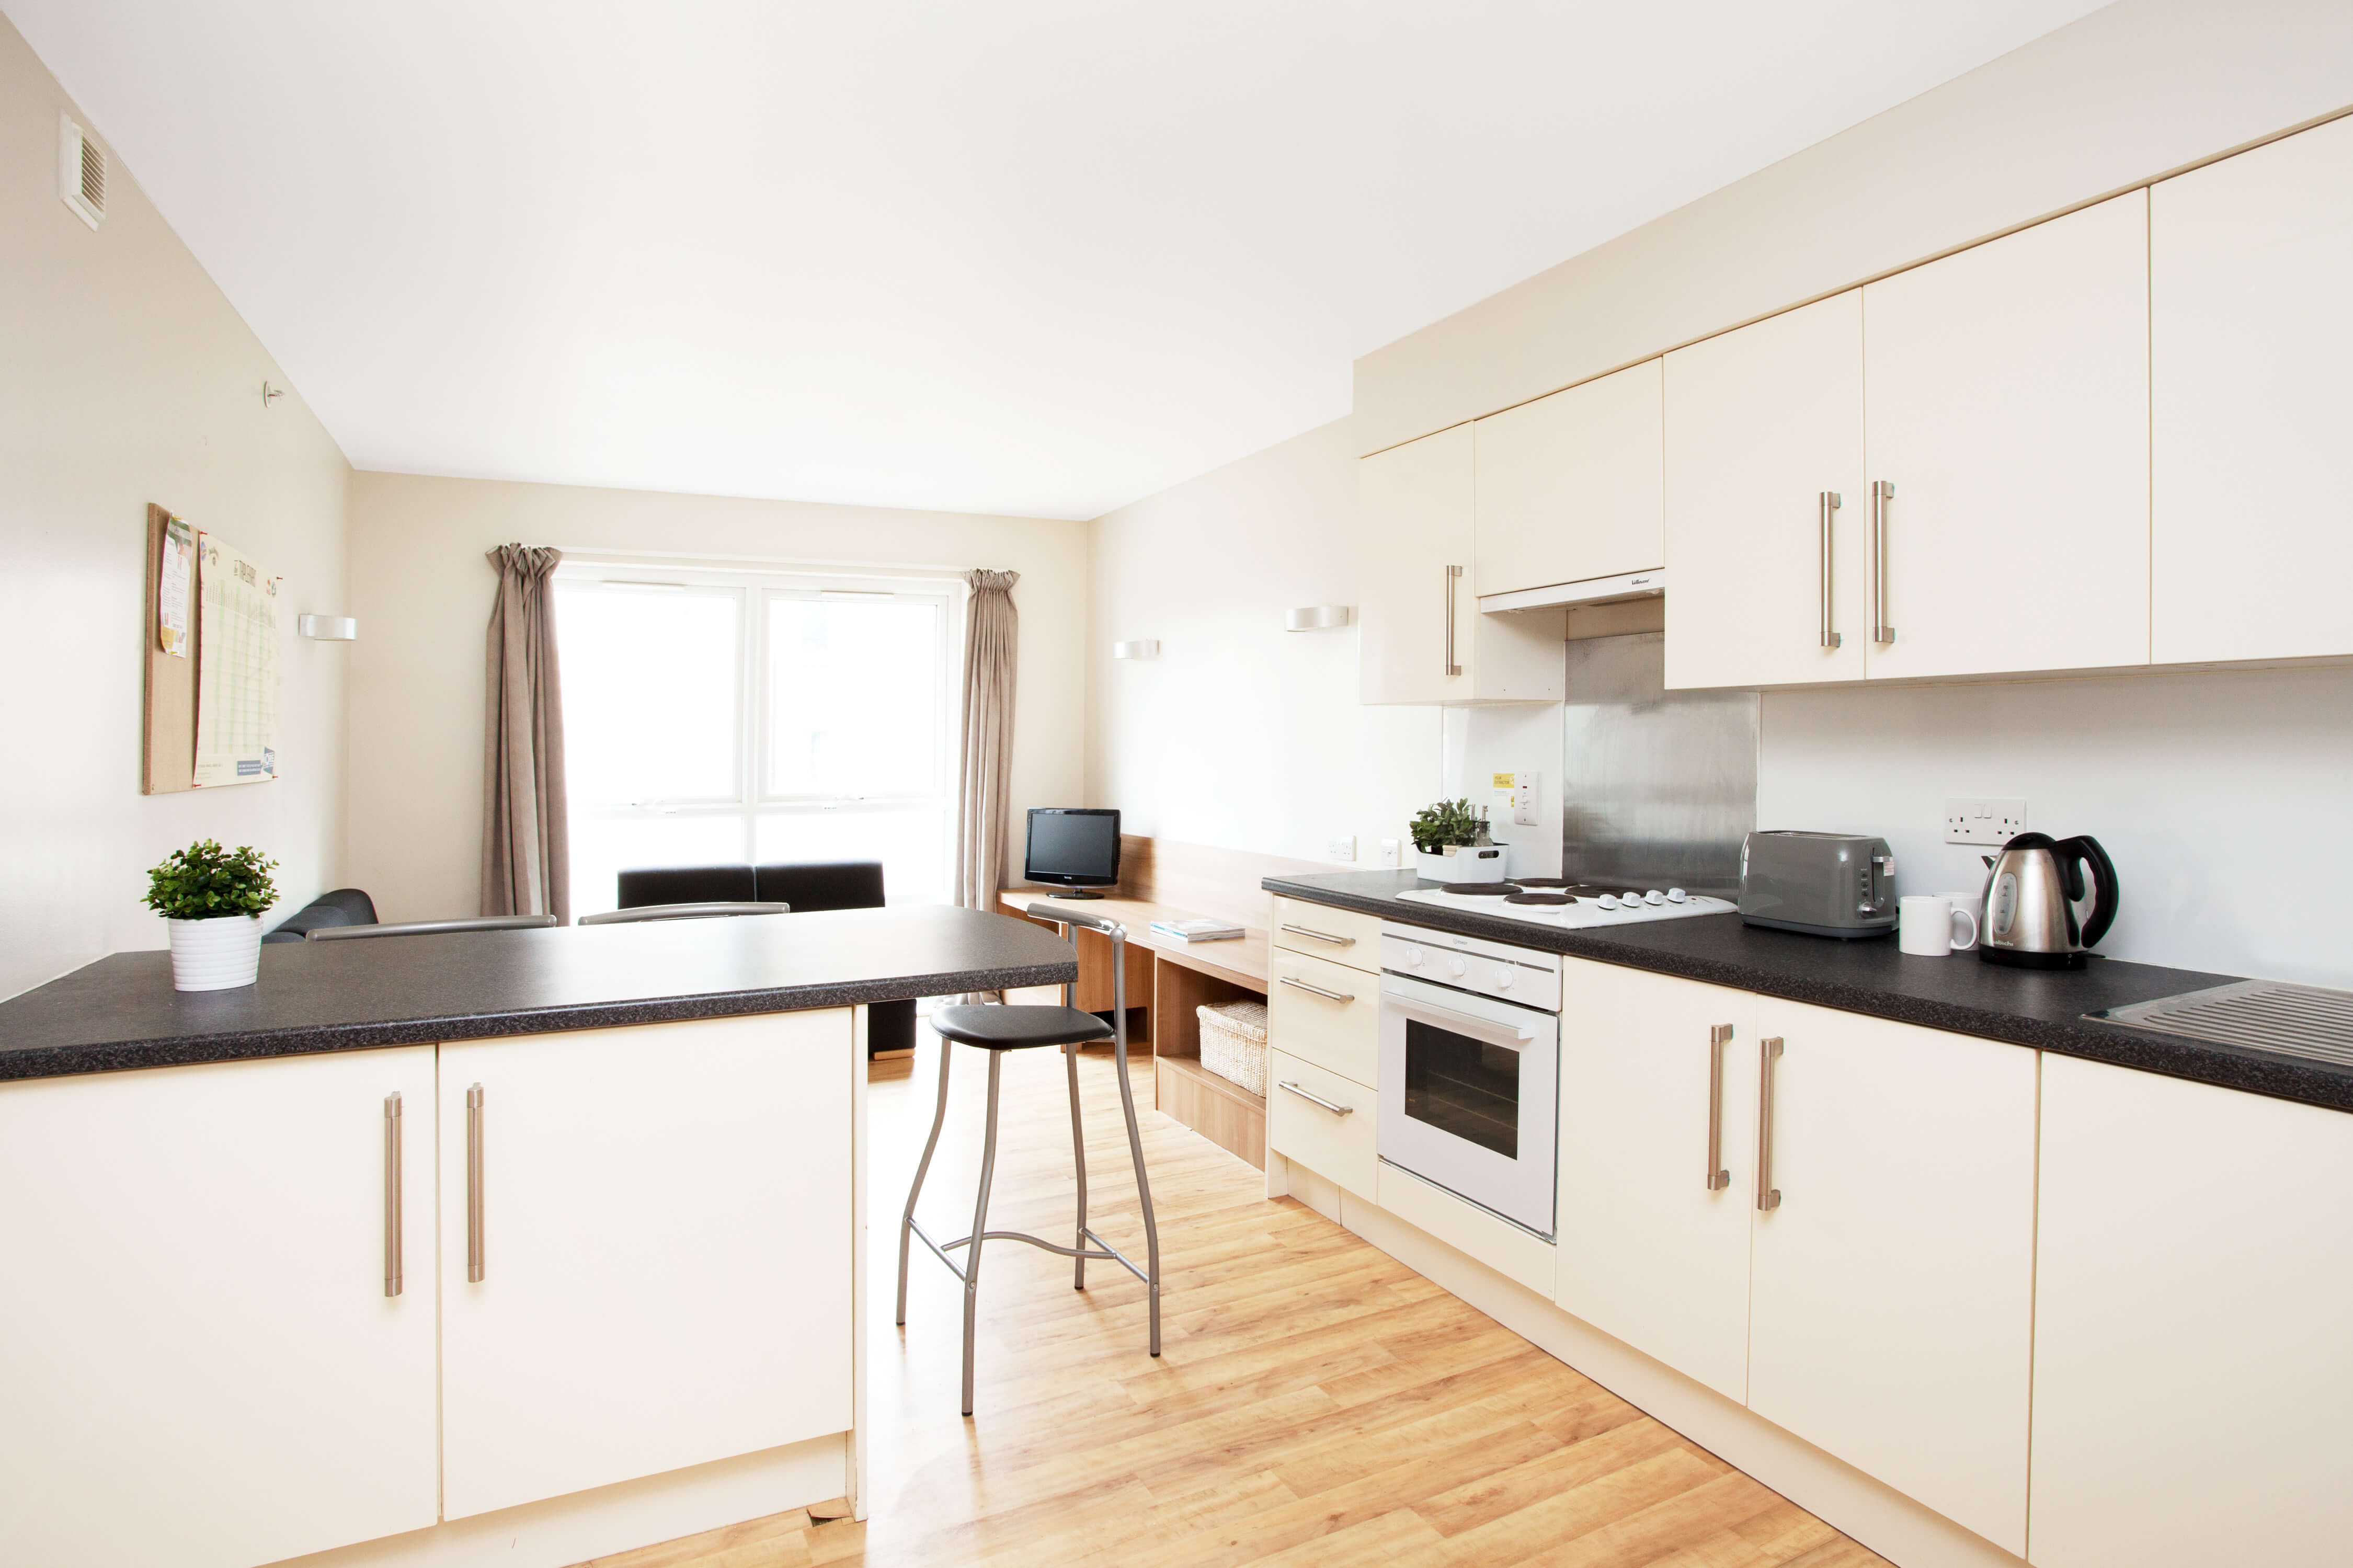
M 1739 916 L 1729 913 L 1614 930 L 1546 930 L 1527 921 L 1478 913 L 1468 899 L 1461 911 L 1402 902 L 1395 897 L 1398 892 L 1438 885 L 1414 878 L 1412 871 L 1271 876 L 1261 885 L 1268 892 L 1355 909 L 1384 921 L 1454 930 L 1492 942 L 1518 942 L 1548 954 L 1624 963 L 1842 1012 L 1868 1012 L 1904 1024 L 1974 1034 L 2252 1095 L 2299 1099 L 2332 1111 L 2353 1111 L 2353 1069 L 2085 1017 L 2104 1008 L 2228 984 L 2240 975 L 2167 970 L 2099 956 L 2092 958 L 2092 968 L 2073 972 L 2005 970 L 1974 954 L 1953 954 L 1951 958 L 1899 954 L 1894 937 L 1838 942 L 1741 925 Z

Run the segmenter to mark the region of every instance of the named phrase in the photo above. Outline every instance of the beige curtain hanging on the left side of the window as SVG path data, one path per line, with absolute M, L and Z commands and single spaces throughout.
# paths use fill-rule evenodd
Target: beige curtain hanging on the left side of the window
M 572 921 L 565 695 L 555 671 L 558 551 L 501 544 L 482 704 L 482 913 Z

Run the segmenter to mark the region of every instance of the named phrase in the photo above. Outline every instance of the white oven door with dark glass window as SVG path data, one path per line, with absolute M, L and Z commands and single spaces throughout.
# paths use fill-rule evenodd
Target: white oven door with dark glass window
M 1381 1158 L 1553 1236 L 1560 1019 L 1381 975 Z

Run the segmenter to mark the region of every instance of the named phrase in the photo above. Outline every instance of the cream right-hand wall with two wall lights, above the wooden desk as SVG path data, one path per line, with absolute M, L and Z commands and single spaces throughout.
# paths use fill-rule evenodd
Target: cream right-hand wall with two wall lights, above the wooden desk
M 1355 699 L 1355 626 L 1285 631 L 1355 605 L 1348 421 L 1297 436 L 1094 523 L 1087 800 L 1132 833 L 1358 864 L 1438 793 L 1438 711 Z M 1158 638 L 1158 659 L 1111 643 Z M 1337 862 L 1334 862 L 1337 869 Z

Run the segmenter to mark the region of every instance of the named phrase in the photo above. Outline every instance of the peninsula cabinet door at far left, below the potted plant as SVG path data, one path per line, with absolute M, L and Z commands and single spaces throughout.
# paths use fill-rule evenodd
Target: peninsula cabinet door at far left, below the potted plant
M 0 1561 L 245 1568 L 435 1521 L 431 1045 L 0 1085 Z

